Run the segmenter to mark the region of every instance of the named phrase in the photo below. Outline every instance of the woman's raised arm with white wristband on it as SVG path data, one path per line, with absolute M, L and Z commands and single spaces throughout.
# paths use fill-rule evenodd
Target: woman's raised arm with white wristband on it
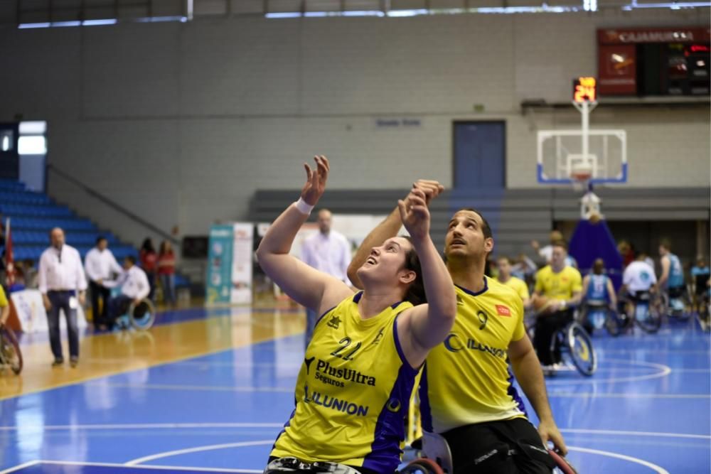
M 343 281 L 318 271 L 289 255 L 289 250 L 309 217 L 311 208 L 319 202 L 326 189 L 328 159 L 316 156 L 316 169 L 306 168 L 306 183 L 301 198 L 282 212 L 264 235 L 257 249 L 257 259 L 264 273 L 297 303 L 321 313 L 336 306 L 353 291 Z

